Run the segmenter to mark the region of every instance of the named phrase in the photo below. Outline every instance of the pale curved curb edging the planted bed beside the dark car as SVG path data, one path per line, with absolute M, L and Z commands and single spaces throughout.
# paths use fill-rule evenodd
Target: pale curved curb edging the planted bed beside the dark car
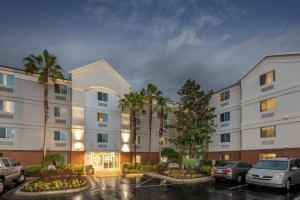
M 183 183 L 183 184 L 189 184 L 189 183 L 205 183 L 205 182 L 210 182 L 213 180 L 211 177 L 201 177 L 201 178 L 193 178 L 193 179 L 177 179 L 177 178 L 172 178 L 160 174 L 155 174 L 155 173 L 145 173 L 145 175 L 151 176 L 153 178 L 159 178 L 163 180 L 167 180 L 173 183 Z

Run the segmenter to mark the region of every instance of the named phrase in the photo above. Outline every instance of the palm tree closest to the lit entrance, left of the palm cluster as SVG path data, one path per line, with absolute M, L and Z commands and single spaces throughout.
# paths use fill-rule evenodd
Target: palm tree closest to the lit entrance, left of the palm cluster
M 130 132 L 133 138 L 134 143 L 134 166 L 136 167 L 136 114 L 137 113 L 144 113 L 144 102 L 143 96 L 137 92 L 130 92 L 125 94 L 122 99 L 119 101 L 119 106 L 122 110 L 128 111 L 130 114 Z M 132 151 L 131 151 L 131 160 L 132 160 Z

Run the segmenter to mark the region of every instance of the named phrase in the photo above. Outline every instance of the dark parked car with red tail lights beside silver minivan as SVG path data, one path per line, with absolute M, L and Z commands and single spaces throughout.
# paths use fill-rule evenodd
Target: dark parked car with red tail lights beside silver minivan
M 242 183 L 251 167 L 244 161 L 225 161 L 213 167 L 212 175 L 216 180 L 227 179 Z

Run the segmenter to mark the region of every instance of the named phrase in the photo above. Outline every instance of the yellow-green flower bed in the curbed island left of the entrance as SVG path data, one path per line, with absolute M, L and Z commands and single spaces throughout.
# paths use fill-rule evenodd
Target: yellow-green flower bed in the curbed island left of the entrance
M 88 185 L 88 181 L 83 176 L 51 176 L 38 178 L 26 183 L 22 188 L 23 192 L 43 192 L 78 189 Z

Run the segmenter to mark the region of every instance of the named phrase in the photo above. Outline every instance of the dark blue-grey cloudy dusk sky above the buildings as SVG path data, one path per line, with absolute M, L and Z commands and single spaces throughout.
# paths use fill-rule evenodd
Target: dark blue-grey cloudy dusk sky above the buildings
M 265 54 L 300 51 L 298 0 L 0 0 L 0 65 L 47 48 L 65 71 L 105 59 L 134 90 L 214 90 Z

